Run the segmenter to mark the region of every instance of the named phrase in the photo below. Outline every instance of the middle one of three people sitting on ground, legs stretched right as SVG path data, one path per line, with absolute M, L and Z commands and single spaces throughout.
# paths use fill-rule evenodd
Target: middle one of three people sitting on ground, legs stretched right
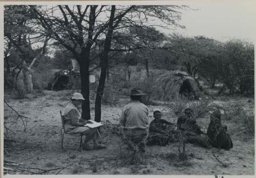
M 207 135 L 200 129 L 196 120 L 193 119 L 193 110 L 185 109 L 185 115 L 180 116 L 177 120 L 177 129 L 181 131 L 186 142 L 195 143 L 204 148 L 210 148 Z

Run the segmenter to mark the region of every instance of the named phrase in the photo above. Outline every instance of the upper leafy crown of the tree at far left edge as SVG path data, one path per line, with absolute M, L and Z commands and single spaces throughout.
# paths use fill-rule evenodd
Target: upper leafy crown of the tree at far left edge
M 6 5 L 4 7 L 5 67 L 21 66 L 23 61 L 32 62 L 36 52 L 31 47 L 30 26 L 32 11 L 25 5 Z M 13 56 L 13 57 L 12 57 Z

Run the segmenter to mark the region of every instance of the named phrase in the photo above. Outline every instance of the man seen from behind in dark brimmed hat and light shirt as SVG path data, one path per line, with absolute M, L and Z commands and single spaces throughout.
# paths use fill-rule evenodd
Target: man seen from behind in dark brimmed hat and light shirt
M 129 146 L 133 149 L 137 147 L 140 152 L 145 152 L 149 121 L 148 108 L 141 103 L 142 95 L 145 94 L 138 88 L 131 90 L 132 101 L 123 107 L 120 124 L 124 127 L 124 139 L 130 143 Z

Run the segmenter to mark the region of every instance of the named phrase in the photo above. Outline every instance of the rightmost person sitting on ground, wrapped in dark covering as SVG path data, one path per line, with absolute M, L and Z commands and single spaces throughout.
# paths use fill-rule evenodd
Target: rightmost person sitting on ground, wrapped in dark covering
M 217 147 L 218 149 L 230 149 L 233 147 L 232 140 L 227 131 L 227 126 L 221 123 L 220 110 L 214 111 L 210 115 L 207 135 L 213 147 Z

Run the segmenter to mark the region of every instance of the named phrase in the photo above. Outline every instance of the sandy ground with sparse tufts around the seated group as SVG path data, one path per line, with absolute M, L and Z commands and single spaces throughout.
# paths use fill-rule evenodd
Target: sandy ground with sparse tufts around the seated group
M 213 155 L 214 148 L 187 144 L 189 153 L 188 162 L 178 162 L 170 158 L 171 153 L 177 152 L 176 143 L 167 146 L 148 146 L 144 165 L 127 165 L 127 150 L 121 137 L 110 126 L 118 123 L 121 108 L 129 103 L 129 96 L 119 97 L 115 106 L 102 106 L 102 142 L 108 146 L 106 149 L 81 151 L 79 137 L 65 135 L 64 149 L 60 145 L 61 120 L 59 110 L 69 102 L 72 91 L 45 91 L 45 95 L 33 93 L 25 99 L 14 99 L 12 95 L 5 95 L 10 106 L 22 115 L 28 116 L 27 130 L 24 133 L 23 123 L 17 121 L 9 132 L 10 139 L 4 142 L 4 147 L 9 156 L 5 160 L 14 161 L 22 167 L 54 169 L 65 167 L 60 172 L 53 170 L 48 174 L 200 174 L 200 175 L 252 175 L 254 174 L 254 138 L 246 130 L 238 131 L 240 123 L 232 120 L 223 121 L 228 125 L 233 148 L 216 152 L 217 157 L 228 164 L 224 167 Z M 253 104 L 252 104 L 253 105 Z M 161 110 L 163 118 L 175 121 L 176 117 L 168 105 L 159 104 L 148 106 L 150 119 L 153 119 L 153 111 Z M 5 122 L 7 125 L 15 121 L 14 112 L 5 106 Z M 91 104 L 91 115 L 94 118 L 94 104 Z M 200 121 L 203 121 L 202 118 Z M 206 131 L 206 127 L 203 126 Z M 94 172 L 93 172 L 94 170 Z M 19 172 L 9 172 L 18 174 Z

